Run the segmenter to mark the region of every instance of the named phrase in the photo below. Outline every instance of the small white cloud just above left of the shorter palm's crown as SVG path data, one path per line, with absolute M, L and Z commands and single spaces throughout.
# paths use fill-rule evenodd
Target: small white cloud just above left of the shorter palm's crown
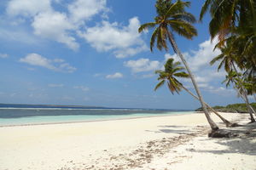
M 157 60 L 137 59 L 125 61 L 124 65 L 131 68 L 132 72 L 154 71 L 160 68 L 160 62 Z

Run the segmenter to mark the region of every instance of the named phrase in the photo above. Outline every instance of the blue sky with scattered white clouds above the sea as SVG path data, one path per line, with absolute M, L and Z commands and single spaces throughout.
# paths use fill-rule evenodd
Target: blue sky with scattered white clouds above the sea
M 154 91 L 155 70 L 169 51 L 149 50 L 155 0 L 1 0 L 0 103 L 94 105 L 125 108 L 196 109 L 186 92 L 172 95 L 166 86 Z M 188 11 L 198 19 L 203 1 Z M 226 88 L 224 71 L 209 61 L 216 40 L 208 32 L 209 16 L 195 24 L 198 36 L 175 35 L 203 98 L 210 105 L 241 103 Z M 193 91 L 189 80 L 180 80 Z

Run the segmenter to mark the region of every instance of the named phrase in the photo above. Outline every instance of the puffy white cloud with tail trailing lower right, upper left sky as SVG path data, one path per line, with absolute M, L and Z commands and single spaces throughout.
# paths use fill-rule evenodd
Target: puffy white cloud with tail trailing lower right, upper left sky
M 40 37 L 64 43 L 73 50 L 79 48 L 79 43 L 76 42 L 76 39 L 69 35 L 68 31 L 76 28 L 67 19 L 66 14 L 59 12 L 38 14 L 34 17 L 32 27 L 34 28 L 34 33 Z

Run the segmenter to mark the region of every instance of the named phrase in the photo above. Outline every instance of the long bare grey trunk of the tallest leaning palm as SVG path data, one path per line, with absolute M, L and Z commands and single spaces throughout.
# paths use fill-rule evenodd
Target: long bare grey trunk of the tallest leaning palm
M 201 102 L 202 109 L 203 109 L 203 111 L 204 111 L 204 113 L 205 113 L 205 116 L 207 117 L 207 121 L 208 121 L 208 123 L 210 124 L 210 126 L 211 126 L 211 128 L 212 128 L 212 131 L 218 130 L 217 124 L 212 121 L 212 118 L 211 118 L 211 116 L 209 115 L 209 112 L 208 112 L 208 110 L 207 110 L 207 106 L 205 105 L 205 103 L 204 103 L 204 101 L 203 101 L 203 99 L 202 99 L 201 92 L 200 92 L 200 90 L 199 90 L 199 88 L 198 88 L 198 86 L 197 86 L 197 84 L 196 84 L 196 82 L 195 82 L 195 77 L 194 77 L 194 75 L 192 74 L 192 72 L 191 72 L 190 69 L 189 69 L 189 65 L 187 64 L 186 60 L 183 58 L 183 54 L 181 54 L 180 50 L 177 48 L 177 44 L 176 44 L 176 42 L 174 41 L 174 39 L 172 38 L 171 33 L 170 33 L 169 31 L 167 31 L 167 33 L 168 33 L 169 41 L 171 42 L 174 51 L 177 53 L 177 55 L 178 55 L 178 56 L 180 57 L 180 59 L 183 61 L 183 65 L 185 66 L 186 70 L 187 70 L 188 73 L 189 73 L 189 76 L 190 76 L 190 78 L 191 78 L 191 81 L 192 81 L 192 83 L 193 83 L 193 85 L 194 85 L 194 87 L 195 87 L 196 94 L 198 95 L 198 98 L 199 98 L 199 100 L 200 100 L 200 102 Z

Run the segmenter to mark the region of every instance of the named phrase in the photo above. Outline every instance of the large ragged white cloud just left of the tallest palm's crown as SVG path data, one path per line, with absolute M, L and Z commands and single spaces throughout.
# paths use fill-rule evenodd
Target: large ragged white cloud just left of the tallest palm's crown
M 97 51 L 112 50 L 117 58 L 125 58 L 148 49 L 137 32 L 139 26 L 137 17 L 131 18 L 128 26 L 102 21 L 101 25 L 87 28 L 84 32 L 79 31 L 79 36 L 84 37 Z

